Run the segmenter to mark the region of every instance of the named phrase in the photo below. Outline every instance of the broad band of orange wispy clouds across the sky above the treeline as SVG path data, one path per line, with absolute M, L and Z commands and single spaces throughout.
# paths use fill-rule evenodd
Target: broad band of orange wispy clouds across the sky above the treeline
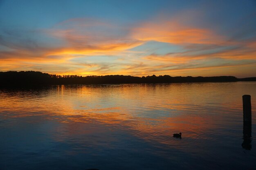
M 232 35 L 220 34 L 209 26 L 191 24 L 200 13 L 188 14 L 160 16 L 128 26 L 74 18 L 45 29 L 1 29 L 0 70 L 77 75 L 249 75 L 250 70 L 244 67 L 256 66 L 254 33 L 238 30 Z M 169 46 L 159 50 L 146 46 L 152 41 Z

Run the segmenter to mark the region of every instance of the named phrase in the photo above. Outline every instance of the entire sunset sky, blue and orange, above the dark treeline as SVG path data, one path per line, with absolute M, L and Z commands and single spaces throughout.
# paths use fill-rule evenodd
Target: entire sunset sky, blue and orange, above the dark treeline
M 256 0 L 0 0 L 0 71 L 256 77 Z

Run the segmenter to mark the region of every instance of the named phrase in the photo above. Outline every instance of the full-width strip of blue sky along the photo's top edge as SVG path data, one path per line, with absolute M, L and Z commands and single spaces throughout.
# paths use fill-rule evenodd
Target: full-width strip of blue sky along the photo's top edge
M 71 18 L 103 18 L 132 23 L 153 18 L 159 13 L 175 15 L 187 9 L 204 10 L 203 25 L 226 29 L 256 9 L 253 0 L 5 0 L 0 10 L 4 25 L 49 28 Z M 194 21 L 195 22 L 195 21 Z M 254 25 L 256 23 L 254 22 Z

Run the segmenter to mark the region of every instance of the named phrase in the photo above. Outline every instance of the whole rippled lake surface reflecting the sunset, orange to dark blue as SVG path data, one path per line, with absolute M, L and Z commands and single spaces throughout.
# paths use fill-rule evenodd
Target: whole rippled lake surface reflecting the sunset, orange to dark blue
M 255 113 L 256 82 L 2 88 L 0 170 L 255 170 Z

